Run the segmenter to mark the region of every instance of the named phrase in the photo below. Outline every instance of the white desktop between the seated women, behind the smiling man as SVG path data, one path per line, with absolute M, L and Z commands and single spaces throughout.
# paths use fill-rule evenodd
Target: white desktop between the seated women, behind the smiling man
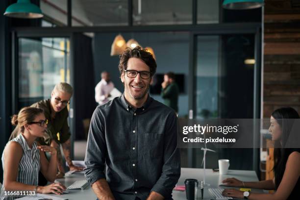
M 243 181 L 258 181 L 258 178 L 254 171 L 242 171 L 242 170 L 229 170 L 227 175 L 220 175 L 218 172 L 213 172 L 211 169 L 206 169 L 206 183 L 210 186 L 204 187 L 204 200 L 213 199 L 208 192 L 208 188 L 217 188 L 219 183 L 225 178 L 236 177 Z M 76 180 L 82 180 L 85 177 L 83 175 L 79 176 L 67 176 L 65 178 L 57 179 L 66 187 L 74 183 Z M 203 169 L 193 169 L 193 168 L 181 168 L 181 176 L 178 180 L 177 185 L 184 185 L 184 180 L 186 178 L 195 178 L 199 182 L 203 180 Z M 225 188 L 225 187 L 223 187 Z M 84 190 L 69 190 L 69 194 L 63 195 L 53 195 L 56 197 L 66 198 L 69 200 L 96 200 L 97 197 L 90 186 L 87 186 Z M 262 192 L 262 190 L 252 189 L 252 192 Z M 174 200 L 186 200 L 185 192 L 173 192 Z M 199 194 L 200 195 L 200 191 Z M 199 196 L 200 197 L 200 196 Z

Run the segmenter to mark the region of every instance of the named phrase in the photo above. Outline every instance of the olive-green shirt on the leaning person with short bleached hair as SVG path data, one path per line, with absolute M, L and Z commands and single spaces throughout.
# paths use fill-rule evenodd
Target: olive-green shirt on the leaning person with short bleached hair
M 39 139 L 39 142 L 41 142 L 41 144 L 50 145 L 51 140 L 55 140 L 58 144 L 62 144 L 70 138 L 71 133 L 68 125 L 69 111 L 67 109 L 67 106 L 60 112 L 56 113 L 54 120 L 51 120 L 50 99 L 33 103 L 31 107 L 43 109 L 45 117 L 49 122 L 47 125 L 45 136 Z M 57 133 L 59 133 L 59 136 L 57 136 Z M 18 130 L 18 126 L 16 126 L 16 128 L 11 133 L 9 140 L 17 137 L 19 134 L 20 131 Z

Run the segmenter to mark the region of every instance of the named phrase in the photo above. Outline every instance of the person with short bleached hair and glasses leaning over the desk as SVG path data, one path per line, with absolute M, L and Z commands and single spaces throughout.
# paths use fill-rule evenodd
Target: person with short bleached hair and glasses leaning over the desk
M 71 155 L 71 133 L 68 125 L 69 111 L 67 105 L 73 95 L 73 88 L 65 82 L 58 83 L 54 86 L 51 92 L 51 99 L 41 100 L 33 103 L 31 107 L 37 107 L 44 110 L 46 119 L 48 120 L 45 136 L 39 140 L 42 145 L 50 145 L 57 150 L 57 178 L 61 178 L 65 174 L 60 145 L 62 146 L 65 159 L 70 167 L 70 170 L 83 170 L 81 167 L 74 166 L 70 158 Z M 9 140 L 17 137 L 18 126 L 13 130 Z

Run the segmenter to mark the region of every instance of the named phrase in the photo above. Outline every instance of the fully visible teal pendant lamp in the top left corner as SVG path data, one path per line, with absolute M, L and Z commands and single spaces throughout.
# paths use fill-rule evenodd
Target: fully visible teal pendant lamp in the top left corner
M 4 16 L 36 19 L 42 18 L 44 15 L 42 10 L 37 5 L 31 3 L 30 0 L 18 0 L 6 8 Z

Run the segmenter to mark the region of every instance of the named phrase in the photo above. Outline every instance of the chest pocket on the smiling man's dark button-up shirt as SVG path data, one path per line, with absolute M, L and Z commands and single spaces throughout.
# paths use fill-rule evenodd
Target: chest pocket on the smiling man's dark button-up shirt
M 140 139 L 140 149 L 152 158 L 163 155 L 164 135 L 157 133 L 143 133 Z

